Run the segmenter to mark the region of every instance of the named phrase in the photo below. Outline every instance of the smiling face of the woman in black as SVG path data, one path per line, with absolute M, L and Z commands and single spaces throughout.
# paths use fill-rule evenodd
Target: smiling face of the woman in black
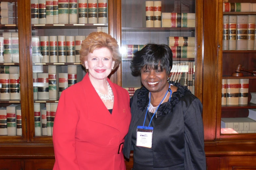
M 157 70 L 145 67 L 141 69 L 141 82 L 150 92 L 160 92 L 168 88 L 167 78 L 168 75 L 165 70 L 160 69 L 160 64 Z

